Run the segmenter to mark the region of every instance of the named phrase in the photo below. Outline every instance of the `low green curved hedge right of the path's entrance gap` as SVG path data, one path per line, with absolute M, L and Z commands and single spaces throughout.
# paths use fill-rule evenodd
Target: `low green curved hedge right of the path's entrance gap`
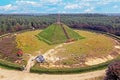
M 33 73 L 46 73 L 46 74 L 72 74 L 72 73 L 83 73 L 83 72 L 90 72 L 95 70 L 105 69 L 112 61 L 120 60 L 120 57 L 98 64 L 93 66 L 81 67 L 81 68 L 63 68 L 63 69 L 47 69 L 47 68 L 40 68 L 40 67 L 33 67 L 31 68 L 31 72 Z

